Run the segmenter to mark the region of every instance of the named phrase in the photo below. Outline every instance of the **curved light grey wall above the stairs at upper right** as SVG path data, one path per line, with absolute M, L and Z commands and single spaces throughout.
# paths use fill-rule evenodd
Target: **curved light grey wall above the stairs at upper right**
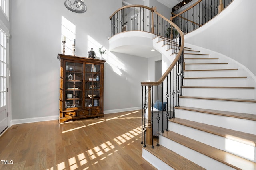
M 256 75 L 256 1 L 234 0 L 218 16 L 185 35 L 185 42 L 222 53 Z

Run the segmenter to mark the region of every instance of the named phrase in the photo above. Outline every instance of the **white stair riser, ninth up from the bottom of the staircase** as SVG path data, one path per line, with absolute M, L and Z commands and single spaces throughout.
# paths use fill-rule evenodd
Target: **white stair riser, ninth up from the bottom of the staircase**
M 185 64 L 185 70 L 209 70 L 228 68 L 231 68 L 229 64 Z

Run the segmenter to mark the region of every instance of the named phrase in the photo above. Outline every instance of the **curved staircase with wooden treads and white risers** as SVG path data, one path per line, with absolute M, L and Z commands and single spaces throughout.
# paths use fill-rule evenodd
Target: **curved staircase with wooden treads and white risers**
M 153 46 L 172 62 L 164 43 Z M 164 170 L 256 170 L 255 76 L 226 56 L 184 46 L 180 106 L 160 146 L 143 147 L 142 156 Z

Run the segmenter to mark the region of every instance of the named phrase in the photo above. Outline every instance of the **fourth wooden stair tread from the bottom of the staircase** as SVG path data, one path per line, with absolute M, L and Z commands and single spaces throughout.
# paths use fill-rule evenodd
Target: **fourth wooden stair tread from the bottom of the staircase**
M 248 113 L 236 113 L 236 112 L 230 112 L 230 111 L 221 111 L 221 110 L 212 110 L 212 109 L 202 109 L 202 108 L 195 108 L 195 107 L 185 107 L 185 106 L 179 106 L 174 107 L 175 109 L 182 109 L 182 110 L 188 110 L 188 111 L 196 111 L 200 113 L 208 113 L 213 115 L 221 115 L 221 116 L 227 116 L 227 117 L 235 117 L 239 119 L 247 119 L 256 121 L 256 114 L 248 114 Z

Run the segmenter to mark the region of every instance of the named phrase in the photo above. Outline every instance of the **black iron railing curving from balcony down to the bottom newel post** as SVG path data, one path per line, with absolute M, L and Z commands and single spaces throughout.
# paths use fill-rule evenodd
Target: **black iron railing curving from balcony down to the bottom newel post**
M 141 82 L 142 85 L 142 144 L 153 145 L 153 136 L 159 137 L 159 129 L 168 130 L 164 124 L 174 117 L 174 106 L 179 104 L 183 84 L 183 47 L 182 31 L 172 21 L 156 11 L 141 5 L 124 6 L 110 16 L 111 37 L 126 31 L 145 31 L 154 34 L 158 41 L 170 51 L 172 63 L 156 82 Z M 154 90 L 157 94 L 154 95 Z M 160 91 L 160 92 L 159 92 Z M 165 96 L 165 97 L 164 97 Z M 156 102 L 160 101 L 160 102 Z M 165 110 L 153 111 L 153 104 L 164 105 Z M 171 111 L 172 109 L 172 111 Z M 162 114 L 161 114 L 162 113 Z M 161 125 L 161 122 L 162 123 Z M 156 127 L 154 127 L 156 126 Z M 153 134 L 153 129 L 157 133 Z M 159 139 L 159 138 L 158 138 Z M 159 141 L 157 145 L 159 146 Z

